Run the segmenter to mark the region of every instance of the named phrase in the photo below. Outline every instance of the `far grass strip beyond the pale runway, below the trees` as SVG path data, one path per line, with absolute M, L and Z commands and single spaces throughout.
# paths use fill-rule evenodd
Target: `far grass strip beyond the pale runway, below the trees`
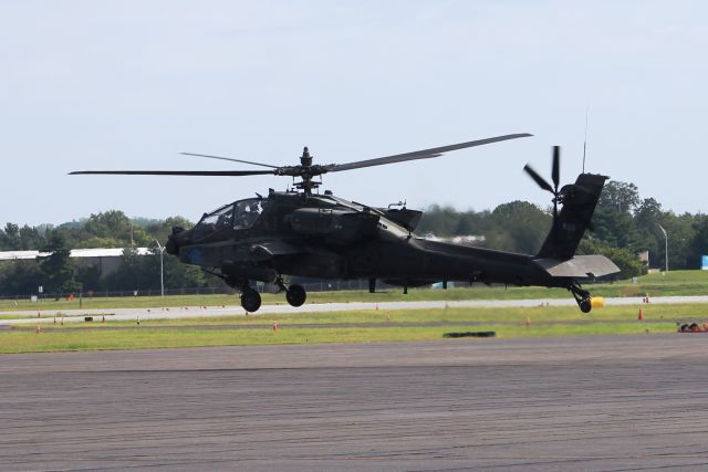
M 594 296 L 626 297 L 626 296 L 669 296 L 669 295 L 704 295 L 708 294 L 708 271 L 675 271 L 666 275 L 650 274 L 638 279 L 638 283 L 622 281 L 612 284 L 589 284 L 585 286 Z M 523 298 L 564 298 L 571 295 L 564 289 L 544 287 L 488 287 L 475 285 L 471 289 L 412 289 L 407 295 L 400 290 L 388 290 L 371 294 L 366 291 L 342 292 L 311 292 L 308 303 L 334 302 L 393 302 L 393 301 L 458 301 L 458 300 L 523 300 Z M 0 301 L 0 312 L 38 311 L 38 310 L 111 310 L 139 307 L 171 307 L 171 306 L 219 306 L 238 304 L 236 295 L 173 295 L 136 296 L 104 298 L 84 297 L 73 302 L 66 300 L 44 300 L 31 303 L 29 300 Z M 264 304 L 284 304 L 283 294 L 263 294 Z

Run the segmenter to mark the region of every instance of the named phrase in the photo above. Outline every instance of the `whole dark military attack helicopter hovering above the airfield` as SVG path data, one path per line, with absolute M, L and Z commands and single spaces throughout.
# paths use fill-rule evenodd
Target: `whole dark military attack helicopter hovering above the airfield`
M 367 279 L 369 292 L 376 281 L 408 287 L 435 282 L 460 281 L 539 285 L 568 289 L 583 313 L 595 305 L 581 282 L 618 272 L 603 255 L 575 255 L 590 225 L 600 193 L 608 177 L 581 174 L 574 183 L 560 186 L 560 147 L 553 148 L 552 181 L 549 183 L 529 165 L 524 170 L 543 190 L 553 196 L 553 222 L 540 252 L 517 254 L 427 240 L 414 231 L 421 211 L 376 208 L 348 201 L 314 180 L 329 172 L 383 166 L 416 159 L 429 159 L 445 153 L 531 136 L 528 133 L 497 136 L 413 153 L 360 160 L 348 164 L 313 164 L 305 147 L 296 166 L 183 153 L 248 164 L 268 170 L 88 170 L 72 175 L 129 176 L 257 176 L 293 178 L 287 191 L 269 189 L 268 196 L 238 200 L 205 213 L 191 229 L 175 227 L 166 242 L 166 252 L 181 262 L 201 266 L 240 292 L 241 306 L 256 312 L 261 296 L 251 286 L 254 281 L 278 285 L 292 306 L 306 300 L 302 285 L 285 283 L 285 275 L 319 279 Z M 299 179 L 299 180 L 295 180 Z M 562 209 L 559 211 L 559 206 Z

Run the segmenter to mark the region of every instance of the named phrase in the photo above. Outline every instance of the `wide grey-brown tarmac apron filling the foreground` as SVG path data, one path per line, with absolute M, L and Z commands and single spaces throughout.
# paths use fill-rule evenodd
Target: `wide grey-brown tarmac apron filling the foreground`
M 0 356 L 0 469 L 708 468 L 708 338 Z

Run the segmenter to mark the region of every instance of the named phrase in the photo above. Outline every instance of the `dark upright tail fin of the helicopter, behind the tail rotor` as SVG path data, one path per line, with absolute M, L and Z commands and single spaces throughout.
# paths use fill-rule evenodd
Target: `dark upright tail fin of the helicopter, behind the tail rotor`
M 560 191 L 563 209 L 553 219 L 549 233 L 538 258 L 571 259 L 600 200 L 600 193 L 608 177 L 581 174 L 575 183 L 564 186 Z

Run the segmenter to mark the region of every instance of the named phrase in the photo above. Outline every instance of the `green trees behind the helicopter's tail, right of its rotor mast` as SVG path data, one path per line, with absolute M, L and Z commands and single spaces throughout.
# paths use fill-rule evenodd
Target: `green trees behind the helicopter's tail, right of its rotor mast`
M 527 201 L 500 204 L 491 211 L 457 211 L 433 206 L 420 221 L 420 234 L 440 237 L 476 234 L 485 237 L 480 247 L 537 253 L 552 222 L 552 208 L 541 209 Z M 704 213 L 676 214 L 664 210 L 654 198 L 641 198 L 634 183 L 610 180 L 602 191 L 591 229 L 579 253 L 604 254 L 621 269 L 620 277 L 641 274 L 645 269 L 637 254 L 648 251 L 648 268 L 663 269 L 668 234 L 670 269 L 700 269 L 700 256 L 708 254 L 708 217 Z

